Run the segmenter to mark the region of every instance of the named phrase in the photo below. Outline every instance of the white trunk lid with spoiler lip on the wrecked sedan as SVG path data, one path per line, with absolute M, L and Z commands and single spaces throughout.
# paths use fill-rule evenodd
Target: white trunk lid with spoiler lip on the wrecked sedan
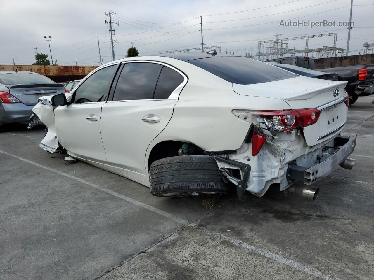
M 344 90 L 346 83 L 346 81 L 297 77 L 269 82 L 266 83 L 266 86 L 265 83 L 252 85 L 233 84 L 233 89 L 236 93 L 243 95 L 282 99 L 292 109 L 308 109 L 321 108 L 322 105 L 346 96 Z M 273 90 L 264 90 L 264 88 L 273 88 Z M 333 94 L 335 89 L 339 91 L 336 96 Z M 306 143 L 309 146 L 313 146 L 338 134 L 346 122 L 347 111 L 348 109 L 344 102 L 322 110 L 318 121 L 303 129 Z

